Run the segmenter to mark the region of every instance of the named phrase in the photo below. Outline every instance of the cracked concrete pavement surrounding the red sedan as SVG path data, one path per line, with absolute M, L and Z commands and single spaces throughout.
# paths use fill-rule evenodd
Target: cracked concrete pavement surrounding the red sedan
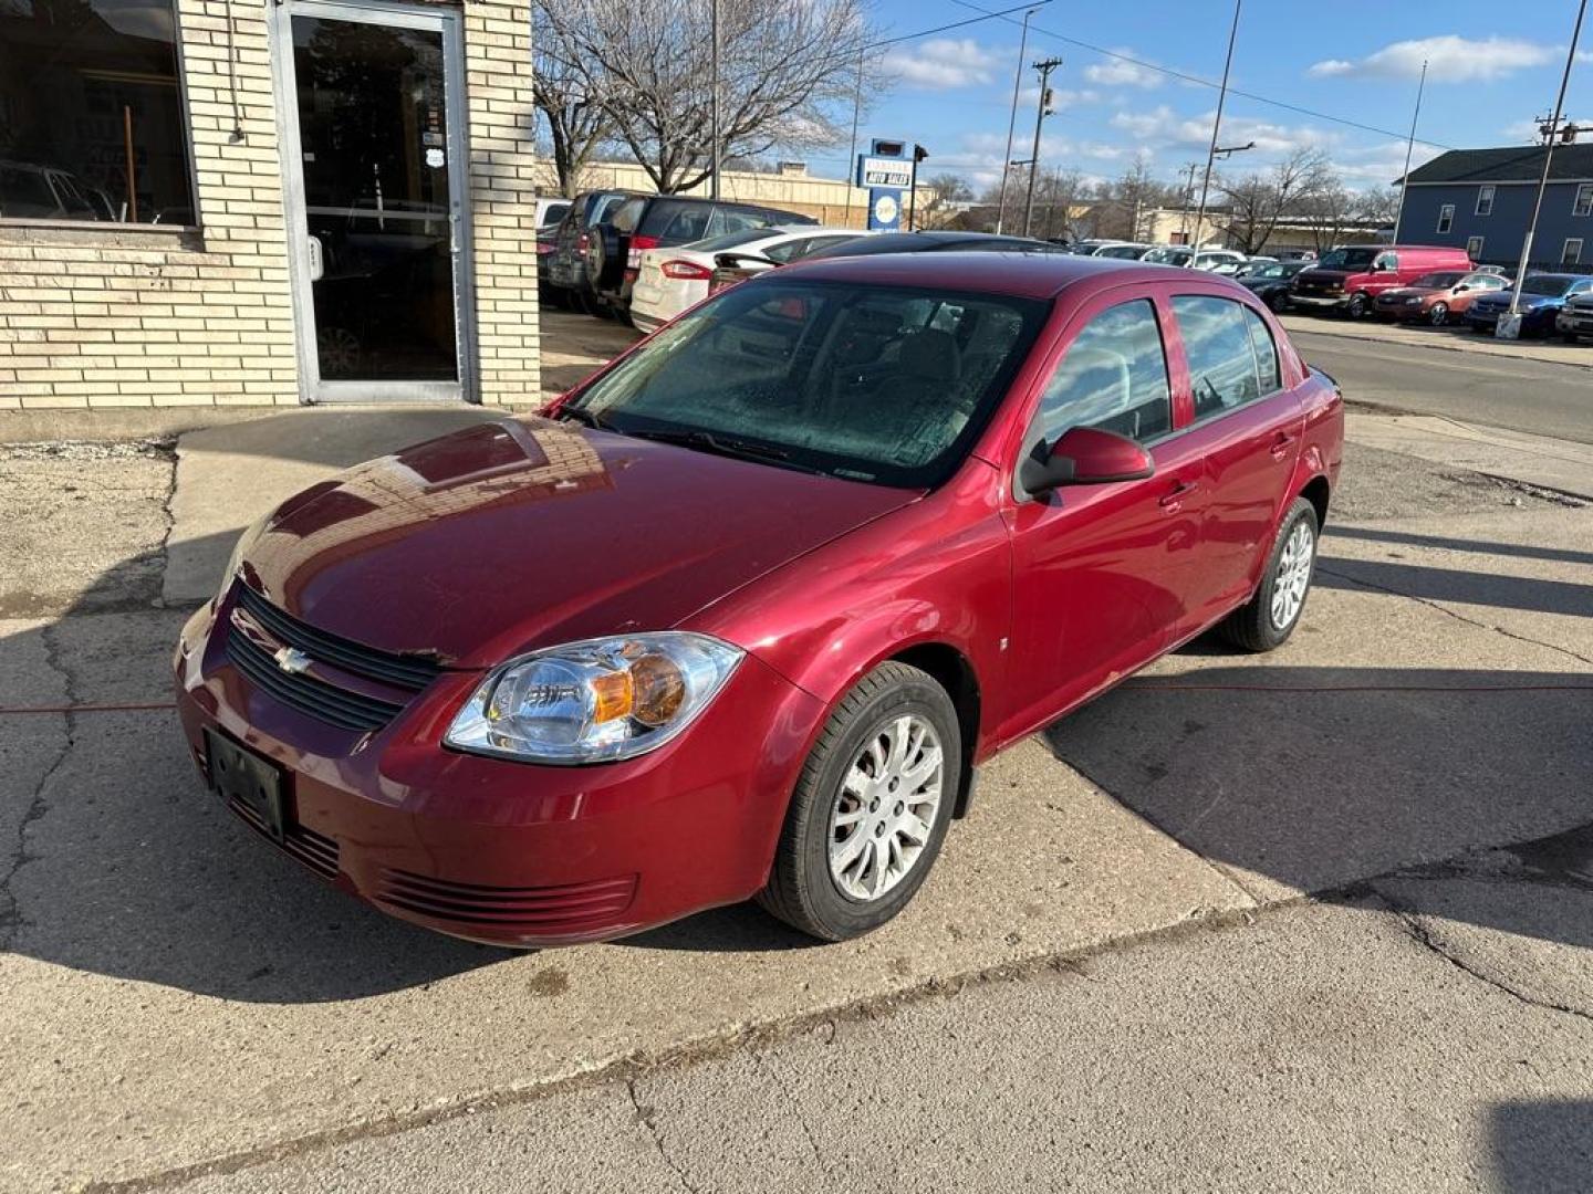
M 166 708 L 239 527 L 475 417 L 0 447 L 0 1188 L 1583 1188 L 1593 509 L 1531 454 L 1354 417 L 1294 642 L 997 759 L 873 936 L 505 954 L 279 858 Z

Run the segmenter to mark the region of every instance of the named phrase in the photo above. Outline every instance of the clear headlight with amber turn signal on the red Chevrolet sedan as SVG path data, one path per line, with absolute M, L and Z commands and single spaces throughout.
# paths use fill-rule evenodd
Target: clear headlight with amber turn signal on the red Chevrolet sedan
M 532 763 L 607 763 L 691 724 L 742 651 L 680 630 L 588 638 L 515 659 L 470 694 L 443 742 Z

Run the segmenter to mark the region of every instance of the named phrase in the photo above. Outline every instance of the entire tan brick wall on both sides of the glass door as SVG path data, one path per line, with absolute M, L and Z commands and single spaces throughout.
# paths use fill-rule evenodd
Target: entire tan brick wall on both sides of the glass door
M 268 6 L 177 0 L 177 11 L 202 234 L 0 224 L 0 409 L 299 401 Z M 486 403 L 534 403 L 529 8 L 470 0 L 464 13 L 479 390 Z

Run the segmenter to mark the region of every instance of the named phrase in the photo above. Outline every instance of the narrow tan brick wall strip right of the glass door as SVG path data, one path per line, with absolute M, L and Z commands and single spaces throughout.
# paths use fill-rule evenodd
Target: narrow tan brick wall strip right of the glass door
M 540 401 L 530 5 L 465 5 L 481 401 Z

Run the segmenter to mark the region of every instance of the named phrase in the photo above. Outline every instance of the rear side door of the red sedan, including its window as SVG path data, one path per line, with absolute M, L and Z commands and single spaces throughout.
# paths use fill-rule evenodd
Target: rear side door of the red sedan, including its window
M 1305 431 L 1305 409 L 1271 325 L 1225 290 L 1176 285 L 1187 441 L 1203 462 L 1200 567 L 1187 589 L 1184 638 L 1243 602 L 1260 575 Z

